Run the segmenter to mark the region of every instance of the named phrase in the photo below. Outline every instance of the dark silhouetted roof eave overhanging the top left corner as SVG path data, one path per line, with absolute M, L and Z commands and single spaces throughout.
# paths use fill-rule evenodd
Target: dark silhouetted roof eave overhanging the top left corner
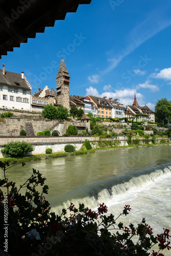
M 1 0 L 0 58 L 20 47 L 21 42 L 35 38 L 36 33 L 44 33 L 46 27 L 53 27 L 55 20 L 65 19 L 67 12 L 76 12 L 79 4 L 90 3 L 91 0 Z

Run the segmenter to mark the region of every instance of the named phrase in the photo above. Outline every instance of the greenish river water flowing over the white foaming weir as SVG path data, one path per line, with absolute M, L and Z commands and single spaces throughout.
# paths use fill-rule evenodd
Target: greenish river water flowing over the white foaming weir
M 124 225 L 138 224 L 144 217 L 155 235 L 171 229 L 171 146 L 153 146 L 47 159 L 13 166 L 9 181 L 22 184 L 38 169 L 49 186 L 46 199 L 57 214 L 70 202 L 96 209 L 108 206 L 116 217 L 131 205 Z M 2 175 L 1 175 L 2 178 Z M 170 255 L 165 251 L 164 255 Z

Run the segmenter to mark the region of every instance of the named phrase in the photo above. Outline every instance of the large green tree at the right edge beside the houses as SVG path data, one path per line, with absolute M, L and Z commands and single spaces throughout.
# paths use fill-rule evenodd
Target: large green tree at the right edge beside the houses
M 171 121 L 171 101 L 166 98 L 158 100 L 155 106 L 155 116 L 159 123 L 167 124 Z

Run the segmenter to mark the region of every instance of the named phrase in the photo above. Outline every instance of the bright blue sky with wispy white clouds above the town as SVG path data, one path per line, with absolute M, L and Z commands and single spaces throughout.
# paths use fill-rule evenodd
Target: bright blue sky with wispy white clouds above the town
M 32 93 L 56 88 L 61 57 L 70 75 L 70 95 L 118 98 L 154 110 L 170 99 L 171 2 L 92 0 L 53 28 L 2 56 L 0 67 L 25 72 Z

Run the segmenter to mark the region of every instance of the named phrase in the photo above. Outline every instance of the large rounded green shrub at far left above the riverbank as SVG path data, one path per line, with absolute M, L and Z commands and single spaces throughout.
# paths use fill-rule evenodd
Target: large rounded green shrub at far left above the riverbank
M 5 154 L 5 157 L 20 157 L 33 150 L 34 146 L 26 141 L 11 141 L 4 145 L 1 152 Z

